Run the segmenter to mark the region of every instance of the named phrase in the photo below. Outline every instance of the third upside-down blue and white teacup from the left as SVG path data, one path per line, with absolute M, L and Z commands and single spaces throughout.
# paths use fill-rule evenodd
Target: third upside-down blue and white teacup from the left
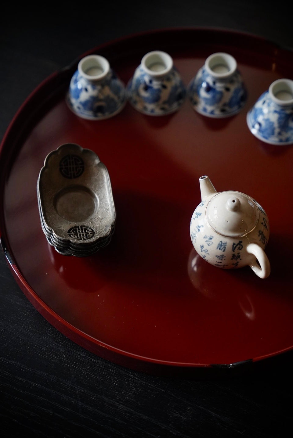
M 198 113 L 214 118 L 237 114 L 247 100 L 235 58 L 222 52 L 213 53 L 205 60 L 189 83 L 187 93 Z

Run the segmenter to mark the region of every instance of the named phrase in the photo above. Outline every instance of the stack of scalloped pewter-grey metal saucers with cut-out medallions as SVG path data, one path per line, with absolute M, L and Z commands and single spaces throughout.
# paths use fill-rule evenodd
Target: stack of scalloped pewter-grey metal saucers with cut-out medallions
M 106 166 L 74 143 L 47 155 L 37 182 L 42 230 L 64 255 L 85 257 L 109 244 L 116 211 Z

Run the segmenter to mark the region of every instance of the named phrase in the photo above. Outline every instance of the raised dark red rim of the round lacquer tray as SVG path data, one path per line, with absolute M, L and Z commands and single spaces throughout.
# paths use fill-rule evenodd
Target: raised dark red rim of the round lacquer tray
M 133 40 L 136 37 L 144 37 L 148 38 L 149 36 L 154 36 L 157 34 L 162 33 L 182 33 L 182 32 L 215 32 L 215 33 L 221 33 L 222 35 L 226 36 L 232 36 L 237 35 L 242 38 L 248 38 L 253 41 L 258 40 L 260 43 L 265 44 L 268 46 L 269 49 L 272 50 L 272 53 L 275 49 L 279 49 L 281 51 L 285 51 L 286 53 L 290 53 L 291 56 L 293 56 L 293 48 L 283 46 L 279 43 L 274 42 L 273 40 L 266 39 L 260 35 L 255 35 L 250 32 L 244 32 L 244 31 L 238 31 L 234 29 L 228 29 L 228 28 L 220 28 L 220 27 L 204 27 L 204 26 L 187 26 L 187 27 L 171 27 L 171 28 L 161 28 L 161 29 L 154 29 L 154 30 L 148 30 L 143 32 L 136 32 L 130 35 L 125 35 L 120 38 L 112 39 L 110 41 L 104 42 L 98 46 L 94 46 L 92 49 L 88 49 L 86 52 L 82 53 L 78 58 L 76 58 L 71 64 L 67 65 L 66 67 L 63 67 L 57 71 L 54 71 L 52 74 L 50 74 L 47 78 L 45 78 L 43 81 L 40 82 L 40 84 L 28 95 L 28 97 L 25 99 L 25 101 L 21 104 L 17 112 L 14 114 L 14 117 L 12 118 L 11 122 L 8 124 L 7 130 L 5 131 L 4 137 L 2 138 L 0 142 L 0 163 L 2 161 L 5 162 L 6 159 L 6 169 L 9 167 L 9 159 L 7 161 L 7 148 L 8 143 L 10 140 L 11 132 L 13 134 L 13 131 L 15 131 L 15 125 L 21 123 L 21 118 L 23 114 L 27 111 L 28 107 L 32 105 L 34 99 L 37 99 L 39 94 L 44 91 L 44 88 L 49 87 L 52 85 L 54 81 L 57 83 L 61 83 L 64 85 L 64 79 L 70 78 L 70 75 L 73 74 L 74 70 L 76 69 L 76 66 L 79 62 L 79 60 L 82 57 L 87 56 L 88 54 L 95 53 L 100 50 L 105 50 L 113 45 L 120 44 L 120 43 L 127 43 L 131 40 Z M 292 58 L 293 59 L 293 58 Z M 63 79 L 64 78 L 64 79 Z M 58 91 L 54 91 L 53 95 L 58 94 Z M 52 100 L 52 97 L 49 99 L 49 101 Z M 41 107 L 43 108 L 45 104 L 42 102 Z M 14 138 L 14 142 L 17 142 L 17 136 Z M 9 153 L 9 152 L 8 152 Z M 79 346 L 82 346 L 88 351 L 91 351 L 94 354 L 97 354 L 99 357 L 102 357 L 106 360 L 110 360 L 113 363 L 125 366 L 127 368 L 134 369 L 136 371 L 145 371 L 145 372 L 154 372 L 154 371 L 162 371 L 164 369 L 163 373 L 165 374 L 166 369 L 172 368 L 172 370 L 175 368 L 178 371 L 187 370 L 187 369 L 234 369 L 235 367 L 239 368 L 243 365 L 251 364 L 258 361 L 263 361 L 271 357 L 275 357 L 277 355 L 289 352 L 293 350 L 293 345 L 287 347 L 286 349 L 278 350 L 272 353 L 268 353 L 259 357 L 254 357 L 251 359 L 247 359 L 241 362 L 237 362 L 234 364 L 202 364 L 202 363 L 184 363 L 184 362 L 173 362 L 173 361 L 167 361 L 167 360 L 159 360 L 154 359 L 150 357 L 144 357 L 139 356 L 134 353 L 130 353 L 124 350 L 120 350 L 116 347 L 113 347 L 111 345 L 108 345 L 104 342 L 99 341 L 98 339 L 93 338 L 92 336 L 88 335 L 85 332 L 82 332 L 81 330 L 77 329 L 70 323 L 68 323 L 64 318 L 61 318 L 55 311 L 53 311 L 40 297 L 39 295 L 32 289 L 32 287 L 28 284 L 24 276 L 22 275 L 20 269 L 18 266 L 14 263 L 13 260 L 13 254 L 11 251 L 11 247 L 9 245 L 9 240 L 7 239 L 7 232 L 5 227 L 5 220 L 3 215 L 3 186 L 4 186 L 4 180 L 6 177 L 6 173 L 1 172 L 0 176 L 0 244 L 3 248 L 5 258 L 7 260 L 8 266 L 12 272 L 12 275 L 22 290 L 22 292 L 25 294 L 25 296 L 28 298 L 28 300 L 31 302 L 31 304 L 35 307 L 35 309 L 42 314 L 42 316 L 51 324 L 53 325 L 58 331 L 60 331 L 62 334 L 67 336 L 68 339 L 71 339 L 73 342 L 77 343 Z M 81 340 L 82 342 L 78 342 L 78 340 Z M 92 344 L 95 346 L 95 348 L 92 346 Z M 97 353 L 98 349 L 98 353 Z M 173 375 L 173 372 L 172 372 Z

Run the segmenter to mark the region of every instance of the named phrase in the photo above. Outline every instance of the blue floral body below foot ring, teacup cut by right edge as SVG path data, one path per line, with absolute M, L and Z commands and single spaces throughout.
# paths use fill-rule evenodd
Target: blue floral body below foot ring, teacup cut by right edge
M 247 125 L 251 133 L 265 143 L 291 144 L 293 143 L 293 106 L 278 105 L 266 91 L 248 111 Z

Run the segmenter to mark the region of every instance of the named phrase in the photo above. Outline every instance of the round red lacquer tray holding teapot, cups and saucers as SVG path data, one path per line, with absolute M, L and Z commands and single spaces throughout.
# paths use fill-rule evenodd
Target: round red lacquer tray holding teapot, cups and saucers
M 106 57 L 126 83 L 151 50 L 174 60 L 186 85 L 205 58 L 233 55 L 248 88 L 234 117 L 208 119 L 186 100 L 165 117 L 129 104 L 109 120 L 76 117 L 64 100 L 77 62 L 44 81 L 14 117 L 1 145 L 1 242 L 32 304 L 60 332 L 100 357 L 140 371 L 228 366 L 293 346 L 291 286 L 293 148 L 267 145 L 246 114 L 272 81 L 293 78 L 293 53 L 253 35 L 170 29 L 110 42 Z M 117 222 L 108 247 L 66 257 L 47 244 L 36 182 L 46 155 L 73 142 L 92 149 L 111 177 Z M 223 271 L 193 250 L 189 223 L 198 178 L 257 199 L 271 224 L 272 273 Z

